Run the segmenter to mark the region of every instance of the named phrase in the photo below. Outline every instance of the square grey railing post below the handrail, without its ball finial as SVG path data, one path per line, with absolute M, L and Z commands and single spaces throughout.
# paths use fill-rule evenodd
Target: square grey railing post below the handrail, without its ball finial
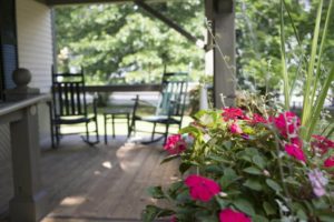
M 24 108 L 22 118 L 10 123 L 14 196 L 9 211 L 12 222 L 37 222 L 46 213 L 46 192 L 40 182 L 37 105 Z

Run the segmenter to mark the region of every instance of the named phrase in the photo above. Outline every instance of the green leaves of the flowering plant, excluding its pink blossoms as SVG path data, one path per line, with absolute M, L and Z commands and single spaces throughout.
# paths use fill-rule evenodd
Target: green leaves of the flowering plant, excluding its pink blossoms
M 180 222 L 219 221 L 219 212 L 227 208 L 243 212 L 254 222 L 317 222 L 333 219 L 334 167 L 324 167 L 324 160 L 332 157 L 333 152 L 322 155 L 315 150 L 314 143 L 304 141 L 301 149 L 305 161 L 294 158 L 286 151 L 285 144 L 297 135 L 283 135 L 271 121 L 254 122 L 255 113 L 272 115 L 271 119 L 277 114 L 262 99 L 255 100 L 253 95 L 244 99 L 248 104 L 244 102 L 243 118 L 226 120 L 226 115 L 222 117 L 222 110 L 199 111 L 195 115 L 196 121 L 180 130 L 183 137 L 193 139 L 187 150 L 179 153 L 179 170 L 184 176 L 167 189 L 149 189 L 153 196 L 165 199 L 171 206 L 157 208 L 156 216 L 149 218 L 151 206 L 148 205 L 143 213 L 145 222 L 165 218 L 158 215 L 165 211 Z M 264 111 L 259 111 L 258 107 Z M 235 123 L 243 133 L 232 130 Z M 333 147 L 334 141 L 332 143 Z M 175 155 L 167 160 L 173 159 Z M 326 184 L 317 181 L 317 188 L 325 189 L 325 194 L 317 195 L 314 190 L 310 173 L 315 171 L 328 179 Z M 208 202 L 194 200 L 190 188 L 185 183 L 191 173 L 216 181 L 220 192 Z

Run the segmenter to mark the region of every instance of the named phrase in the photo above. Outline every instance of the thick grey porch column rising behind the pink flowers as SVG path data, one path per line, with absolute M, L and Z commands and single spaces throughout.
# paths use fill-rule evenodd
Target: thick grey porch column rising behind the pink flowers
M 212 21 L 209 44 L 214 44 L 214 102 L 216 108 L 234 104 L 236 89 L 234 0 L 206 0 L 206 17 Z M 212 34 L 209 33 L 209 36 Z M 208 52 L 209 53 L 209 52 Z M 224 102 L 222 101 L 222 94 Z

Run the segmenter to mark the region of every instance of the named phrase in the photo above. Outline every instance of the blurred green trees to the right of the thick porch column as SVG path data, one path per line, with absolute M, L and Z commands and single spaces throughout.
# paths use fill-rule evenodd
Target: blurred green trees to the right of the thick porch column
M 308 64 L 307 54 L 312 48 L 312 38 L 316 21 L 317 6 L 321 0 L 285 1 L 283 18 L 279 17 L 281 1 L 238 0 L 237 17 L 237 70 L 242 88 L 261 90 L 263 93 L 273 89 L 282 90 L 281 51 L 287 67 L 289 87 L 299 93 L 303 88 L 304 70 L 297 65 Z M 330 1 L 324 1 L 324 11 L 328 10 Z M 281 46 L 281 22 L 284 20 L 284 48 Z M 321 23 L 325 23 L 325 17 Z M 292 23 L 293 21 L 293 23 Z M 328 26 L 327 40 L 323 48 L 322 69 L 328 69 L 334 58 L 334 26 L 333 17 Z M 295 81 L 297 79 L 297 81 Z M 322 82 L 322 81 L 321 81 Z M 282 84 L 278 84 L 282 83 Z

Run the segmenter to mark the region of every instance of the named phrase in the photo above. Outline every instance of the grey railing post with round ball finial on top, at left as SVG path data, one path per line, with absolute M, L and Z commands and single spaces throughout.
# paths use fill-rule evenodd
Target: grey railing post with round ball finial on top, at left
M 39 94 L 29 88 L 31 73 L 17 69 L 12 74 L 16 88 L 7 90 L 9 102 L 22 102 Z M 47 193 L 41 188 L 40 148 L 37 102 L 16 111 L 19 118 L 10 121 L 12 178 L 14 195 L 9 203 L 11 222 L 38 222 L 47 212 Z

